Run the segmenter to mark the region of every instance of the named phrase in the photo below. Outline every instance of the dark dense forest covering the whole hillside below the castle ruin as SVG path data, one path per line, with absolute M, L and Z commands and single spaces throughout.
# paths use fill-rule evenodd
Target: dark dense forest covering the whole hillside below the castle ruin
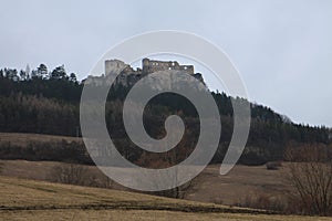
M 44 64 L 40 64 L 37 70 L 31 72 L 29 70 L 0 70 L 0 131 L 81 136 L 79 119 L 83 85 L 84 81 L 79 82 L 74 73 L 68 74 L 64 66 L 55 67 L 50 72 Z M 152 137 L 163 137 L 164 122 L 172 114 L 179 115 L 186 125 L 185 137 L 176 152 L 163 154 L 164 156 L 160 157 L 160 155 L 157 156 L 135 147 L 125 133 L 122 106 L 128 90 L 121 85 L 113 86 L 106 103 L 107 128 L 123 156 L 136 164 L 152 167 L 164 166 L 163 164 L 162 166 L 151 165 L 145 160 L 147 157 L 149 159 L 168 158 L 166 160 L 168 165 L 185 159 L 195 148 L 199 136 L 199 118 L 191 103 L 179 95 L 166 93 L 154 97 L 145 108 L 144 126 Z M 212 162 L 220 162 L 232 134 L 231 99 L 239 98 L 219 92 L 211 92 L 211 94 L 218 105 L 222 125 L 219 148 Z M 283 151 L 288 146 L 330 145 L 329 128 L 294 124 L 269 107 L 257 104 L 250 104 L 250 106 L 251 128 L 246 150 L 240 159 L 241 164 L 259 165 L 268 160 L 282 159 Z M 6 158 L 10 151 L 8 144 L 6 145 L 7 155 L 2 152 L 2 158 Z M 77 148 L 76 144 L 75 148 Z M 35 148 L 31 148 L 31 151 L 33 149 L 35 150 Z M 169 160 L 169 156 L 175 155 L 176 159 Z M 10 156 L 10 158 L 24 158 L 24 156 L 27 158 L 29 155 L 11 152 Z M 56 159 L 61 160 L 61 157 Z M 86 159 L 83 162 L 85 164 Z

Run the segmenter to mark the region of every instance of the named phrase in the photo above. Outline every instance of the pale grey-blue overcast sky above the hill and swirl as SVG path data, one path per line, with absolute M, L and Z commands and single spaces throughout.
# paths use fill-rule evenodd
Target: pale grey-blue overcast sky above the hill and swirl
M 0 3 L 0 69 L 64 64 L 80 78 L 114 44 L 153 30 L 221 48 L 250 101 L 332 126 L 332 1 L 17 1 Z

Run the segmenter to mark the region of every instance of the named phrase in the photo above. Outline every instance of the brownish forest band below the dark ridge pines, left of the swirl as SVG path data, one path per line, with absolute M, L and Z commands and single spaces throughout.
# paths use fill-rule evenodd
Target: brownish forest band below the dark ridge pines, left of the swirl
M 79 105 L 42 95 L 0 96 L 0 131 L 77 136 Z

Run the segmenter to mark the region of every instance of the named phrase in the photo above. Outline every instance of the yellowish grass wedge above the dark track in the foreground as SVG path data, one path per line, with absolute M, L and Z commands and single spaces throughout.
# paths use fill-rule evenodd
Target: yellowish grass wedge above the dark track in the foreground
M 2 210 L 48 209 L 124 209 L 174 211 L 234 211 L 261 212 L 186 200 L 133 193 L 127 191 L 89 188 L 0 177 L 0 208 Z

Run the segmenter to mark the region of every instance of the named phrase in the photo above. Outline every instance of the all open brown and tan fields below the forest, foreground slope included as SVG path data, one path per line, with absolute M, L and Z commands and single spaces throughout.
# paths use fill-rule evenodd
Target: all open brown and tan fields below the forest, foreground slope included
M 1 141 L 81 140 L 49 135 L 1 134 Z M 63 162 L 0 160 L 0 220 L 332 220 L 328 218 L 277 215 L 263 210 L 231 207 L 248 197 L 282 197 L 290 186 L 287 164 L 279 170 L 264 166 L 236 166 L 227 176 L 220 165 L 208 166 L 186 192 L 185 199 L 139 194 L 115 182 L 112 189 L 50 183 L 54 167 Z M 104 180 L 93 166 L 82 166 L 86 179 Z M 34 180 L 34 181 L 33 181 Z M 37 181 L 42 180 L 42 181 Z

